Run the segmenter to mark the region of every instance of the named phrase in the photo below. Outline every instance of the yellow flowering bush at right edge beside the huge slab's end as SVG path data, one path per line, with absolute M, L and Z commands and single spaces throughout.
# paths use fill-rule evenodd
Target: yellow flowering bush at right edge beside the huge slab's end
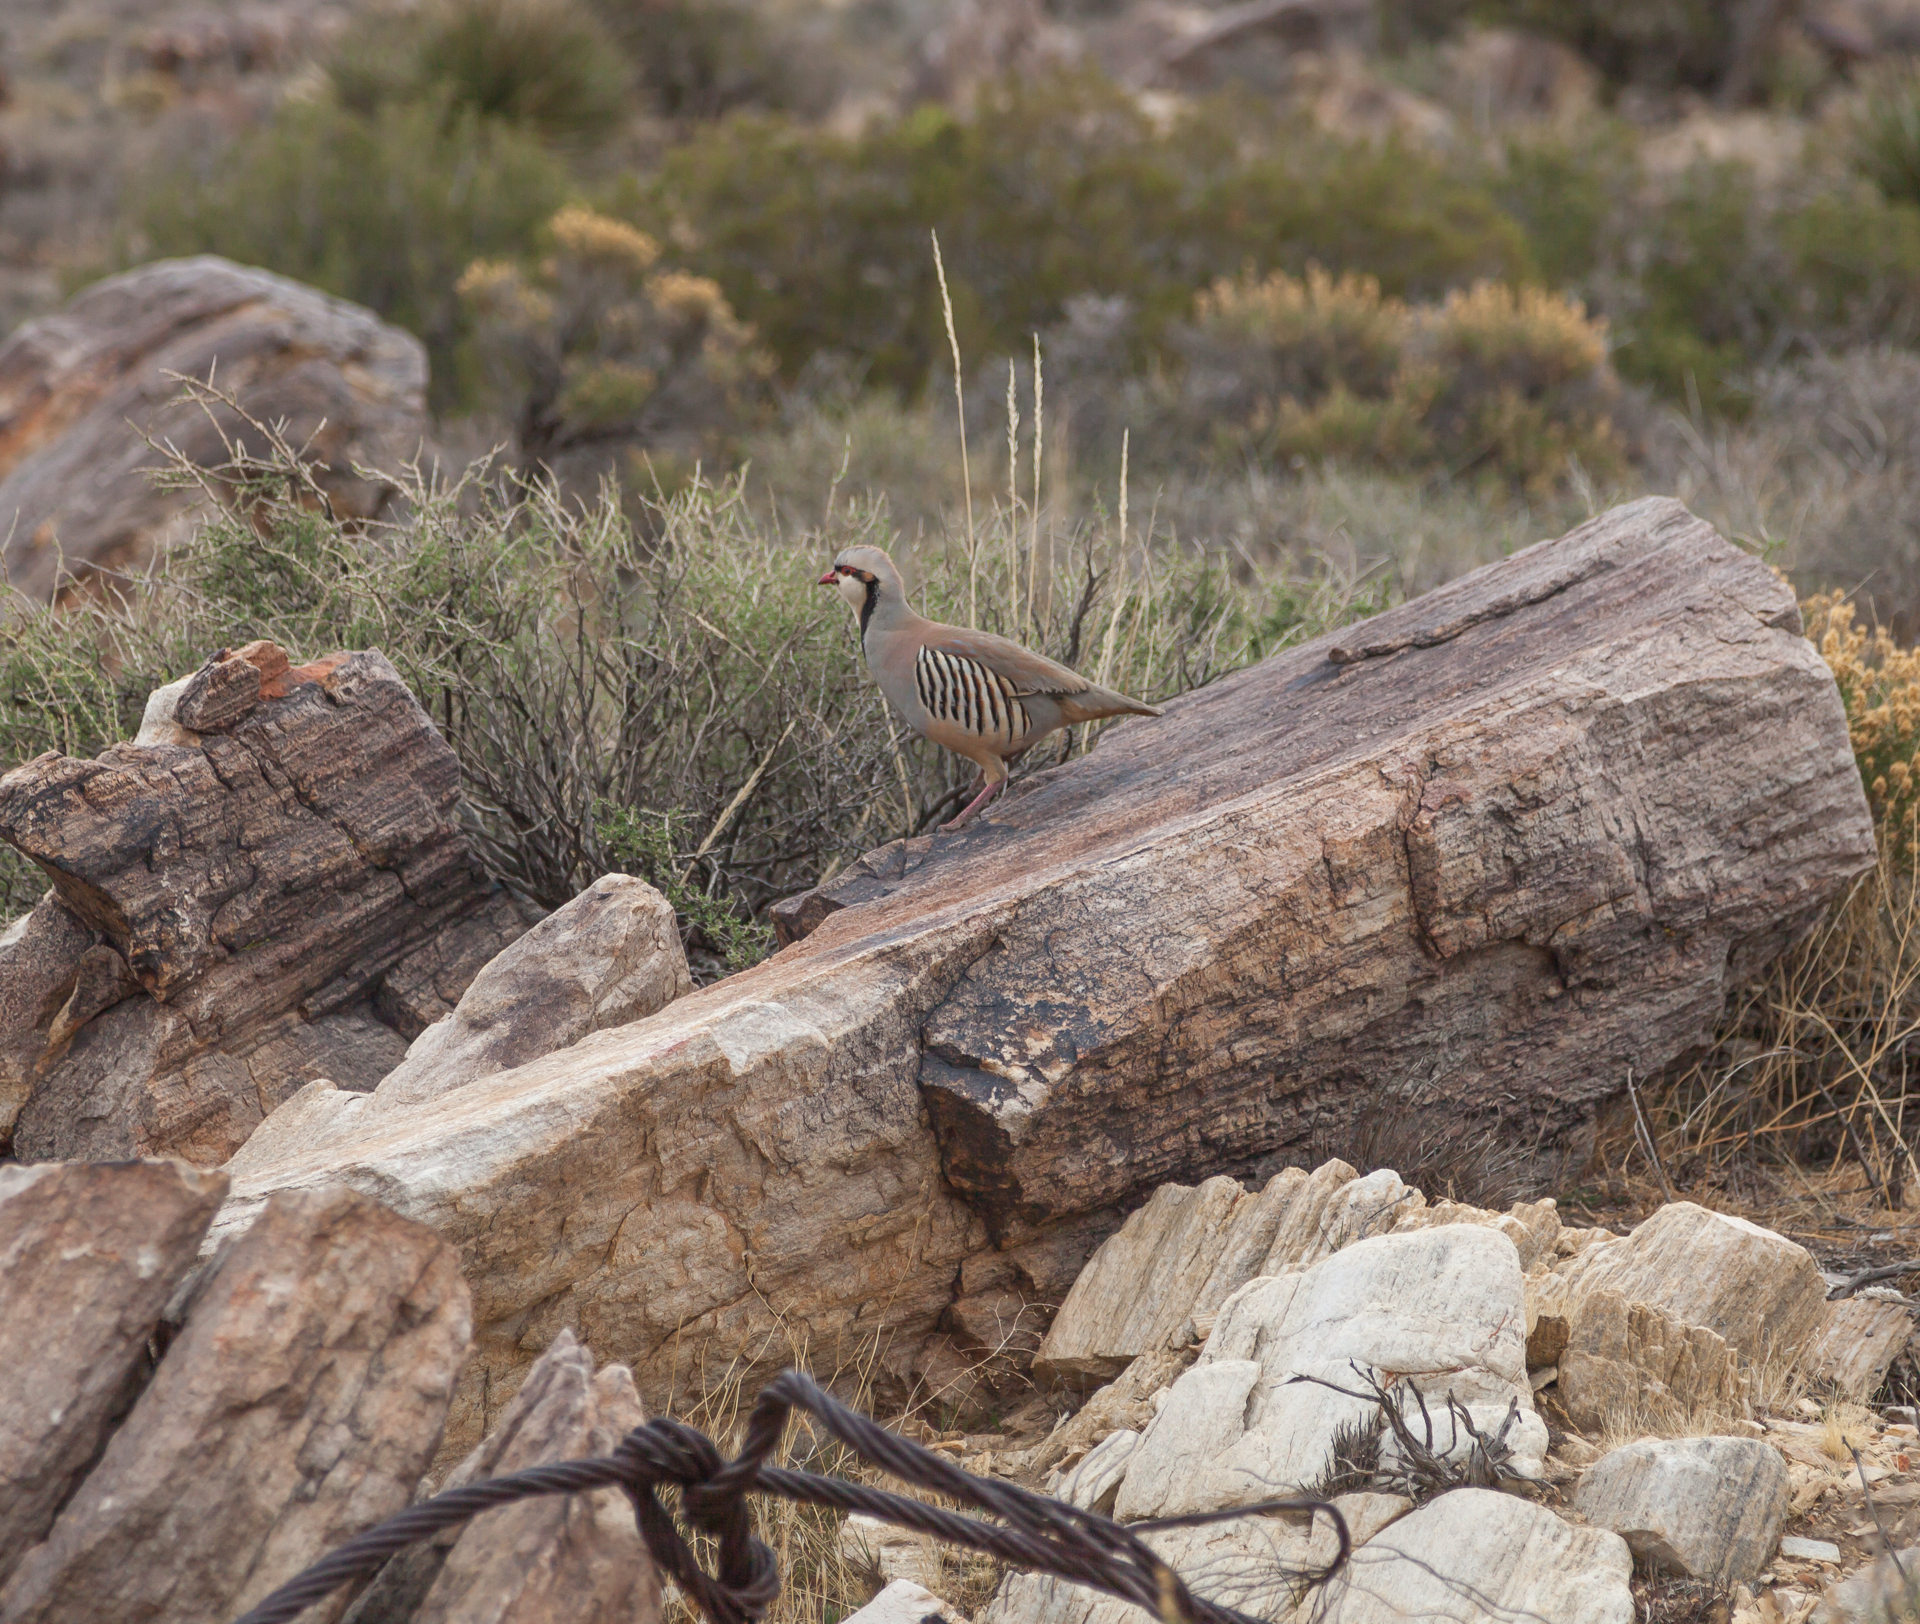
M 1837 591 L 1807 599 L 1801 614 L 1847 706 L 1847 735 L 1884 847 L 1912 860 L 1920 854 L 1920 649 L 1857 624 Z

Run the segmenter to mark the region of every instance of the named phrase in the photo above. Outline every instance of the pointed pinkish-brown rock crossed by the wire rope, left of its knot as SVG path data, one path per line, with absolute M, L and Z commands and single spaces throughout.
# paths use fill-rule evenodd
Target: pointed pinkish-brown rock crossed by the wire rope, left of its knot
M 622 1365 L 561 1332 L 499 1426 L 440 1486 L 611 1455 L 645 1413 Z M 660 1578 L 620 1490 L 530 1499 L 394 1557 L 344 1624 L 653 1624 Z

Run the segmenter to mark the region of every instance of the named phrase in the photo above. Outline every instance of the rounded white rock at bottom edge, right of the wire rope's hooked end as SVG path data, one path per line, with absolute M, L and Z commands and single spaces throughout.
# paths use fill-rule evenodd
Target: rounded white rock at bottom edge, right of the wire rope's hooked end
M 1576 1528 L 1494 1490 L 1453 1490 L 1357 1549 L 1327 1588 L 1327 1624 L 1536 1620 L 1632 1624 L 1634 1559 L 1605 1528 Z

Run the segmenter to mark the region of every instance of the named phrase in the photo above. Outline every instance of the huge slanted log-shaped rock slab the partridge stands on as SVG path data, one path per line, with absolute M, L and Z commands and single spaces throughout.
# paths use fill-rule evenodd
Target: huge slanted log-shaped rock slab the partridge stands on
M 346 1177 L 455 1238 L 459 1447 L 561 1326 L 649 1401 L 899 1353 L 1413 1085 L 1580 1156 L 1872 860 L 1791 593 L 1647 499 L 1117 726 L 872 854 L 768 964 L 290 1150 L 223 1225 Z

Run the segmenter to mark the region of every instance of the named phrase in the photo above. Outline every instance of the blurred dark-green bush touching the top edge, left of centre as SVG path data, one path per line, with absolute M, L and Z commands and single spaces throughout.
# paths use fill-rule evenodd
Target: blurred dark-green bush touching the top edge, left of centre
M 470 113 L 568 144 L 612 134 L 634 106 L 626 61 L 576 0 L 432 0 L 372 13 L 328 67 L 340 102 Z

